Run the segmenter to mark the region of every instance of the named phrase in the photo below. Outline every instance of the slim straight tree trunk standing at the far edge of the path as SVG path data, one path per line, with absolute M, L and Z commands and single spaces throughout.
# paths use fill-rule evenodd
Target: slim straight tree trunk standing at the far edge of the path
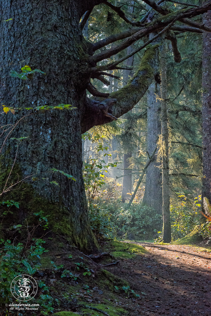
M 163 241 L 171 242 L 170 193 L 169 193 L 169 133 L 167 113 L 166 43 L 161 53 L 161 131 L 162 189 L 163 189 Z

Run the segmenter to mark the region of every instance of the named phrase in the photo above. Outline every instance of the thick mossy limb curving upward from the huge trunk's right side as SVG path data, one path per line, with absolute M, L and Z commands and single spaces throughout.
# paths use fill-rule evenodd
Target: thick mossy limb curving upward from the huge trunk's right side
M 111 116 L 106 116 L 99 107 L 102 104 L 102 98 L 95 98 L 95 100 L 87 98 L 82 113 L 82 133 L 95 125 L 109 123 L 119 118 L 138 103 L 158 71 L 158 47 L 159 45 L 149 47 L 131 81 L 120 90 L 110 93 L 109 99 L 103 101 L 104 105 L 108 105 L 106 111 Z

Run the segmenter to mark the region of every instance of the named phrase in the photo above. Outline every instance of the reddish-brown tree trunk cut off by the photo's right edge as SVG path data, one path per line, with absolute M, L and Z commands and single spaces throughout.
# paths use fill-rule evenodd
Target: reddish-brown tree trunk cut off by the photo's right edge
M 208 1 L 205 1 L 206 4 Z M 203 14 L 203 23 L 211 27 L 211 11 Z M 207 197 L 211 203 L 211 36 L 203 32 L 202 50 L 202 137 L 203 137 L 203 178 L 202 202 Z M 202 203 L 203 205 L 203 203 Z M 203 206 L 202 206 L 203 210 Z M 202 218 L 202 221 L 205 218 Z

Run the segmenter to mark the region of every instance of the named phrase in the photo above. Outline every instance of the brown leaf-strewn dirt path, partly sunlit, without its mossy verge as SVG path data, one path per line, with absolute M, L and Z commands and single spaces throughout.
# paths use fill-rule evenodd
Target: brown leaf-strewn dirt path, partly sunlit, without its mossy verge
M 133 284 L 140 298 L 124 296 L 116 305 L 130 315 L 211 316 L 210 252 L 186 245 L 133 243 L 149 252 L 107 270 Z

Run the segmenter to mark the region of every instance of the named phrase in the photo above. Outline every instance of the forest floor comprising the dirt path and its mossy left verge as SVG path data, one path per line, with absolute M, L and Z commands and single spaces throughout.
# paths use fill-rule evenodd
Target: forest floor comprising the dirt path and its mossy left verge
M 211 316 L 210 248 L 136 241 L 102 241 L 101 246 L 115 260 L 100 259 L 104 275 L 93 265 L 89 290 L 77 288 L 75 307 L 56 316 Z M 121 280 L 130 286 L 126 293 Z

